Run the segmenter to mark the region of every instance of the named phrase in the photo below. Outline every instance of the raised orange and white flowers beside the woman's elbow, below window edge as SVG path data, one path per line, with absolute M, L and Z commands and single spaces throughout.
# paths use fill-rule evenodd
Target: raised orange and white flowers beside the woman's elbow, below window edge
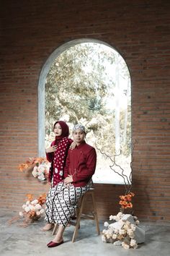
M 47 181 L 50 169 L 50 163 L 46 158 L 28 158 L 25 163 L 18 166 L 19 171 L 32 171 L 32 176 L 40 181 Z

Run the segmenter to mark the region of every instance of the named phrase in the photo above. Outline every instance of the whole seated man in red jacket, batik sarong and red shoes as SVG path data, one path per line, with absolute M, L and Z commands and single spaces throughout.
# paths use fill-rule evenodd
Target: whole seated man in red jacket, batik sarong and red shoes
M 73 141 L 76 142 L 76 147 L 68 150 L 64 168 L 65 179 L 48 193 L 45 220 L 58 223 L 58 233 L 53 241 L 47 244 L 48 247 L 63 244 L 63 232 L 75 213 L 79 198 L 92 185 L 91 177 L 96 168 L 97 154 L 93 147 L 86 144 L 85 136 L 84 127 L 77 124 L 73 128 Z

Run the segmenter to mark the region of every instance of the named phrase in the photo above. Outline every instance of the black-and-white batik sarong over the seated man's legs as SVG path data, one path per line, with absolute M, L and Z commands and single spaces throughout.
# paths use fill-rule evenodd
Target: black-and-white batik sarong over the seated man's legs
M 84 187 L 69 187 L 63 182 L 52 187 L 46 198 L 45 222 L 58 223 L 64 227 L 71 220 L 71 216 L 75 216 L 75 210 L 79 199 L 92 186 L 90 181 Z

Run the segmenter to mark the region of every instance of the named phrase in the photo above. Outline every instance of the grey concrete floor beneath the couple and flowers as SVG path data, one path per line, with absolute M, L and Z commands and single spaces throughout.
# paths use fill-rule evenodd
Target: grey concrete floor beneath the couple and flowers
M 146 242 L 138 249 L 124 249 L 113 244 L 102 242 L 97 236 L 94 221 L 81 221 L 81 229 L 76 242 L 72 243 L 73 226 L 66 228 L 64 244 L 48 248 L 51 231 L 42 232 L 43 218 L 27 228 L 19 226 L 21 221 L 9 225 L 7 221 L 14 213 L 0 212 L 0 255 L 3 256 L 169 256 L 170 255 L 170 223 L 140 223 L 146 231 Z M 107 221 L 107 220 L 104 220 Z M 104 229 L 100 221 L 101 231 Z

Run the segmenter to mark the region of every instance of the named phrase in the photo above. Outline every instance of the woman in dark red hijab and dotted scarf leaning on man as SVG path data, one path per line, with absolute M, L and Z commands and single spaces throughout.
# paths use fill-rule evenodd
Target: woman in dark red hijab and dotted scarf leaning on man
M 51 187 L 55 187 L 63 180 L 63 170 L 66 164 L 66 156 L 68 148 L 70 148 L 73 140 L 68 138 L 69 128 L 65 121 L 56 121 L 53 126 L 55 140 L 49 148 L 46 148 L 46 158 L 51 163 L 50 172 L 48 175 Z M 53 228 L 53 223 L 47 223 L 42 231 L 48 231 Z

